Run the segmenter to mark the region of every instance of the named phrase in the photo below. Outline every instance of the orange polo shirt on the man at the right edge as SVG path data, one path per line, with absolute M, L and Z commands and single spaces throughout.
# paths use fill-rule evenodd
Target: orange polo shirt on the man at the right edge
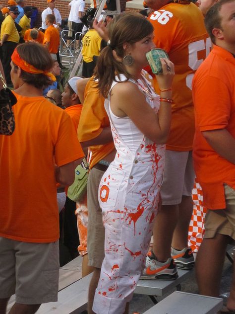
M 194 168 L 202 186 L 204 206 L 224 209 L 223 183 L 235 189 L 235 165 L 221 157 L 203 131 L 226 129 L 235 138 L 235 58 L 214 45 L 197 70 L 192 84 L 195 106 Z

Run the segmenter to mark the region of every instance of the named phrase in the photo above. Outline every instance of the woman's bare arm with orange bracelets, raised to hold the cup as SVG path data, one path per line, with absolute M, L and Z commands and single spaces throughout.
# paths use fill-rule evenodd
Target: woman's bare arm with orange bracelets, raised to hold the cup
M 171 71 L 167 71 L 167 65 Z M 169 60 L 162 59 L 163 74 L 157 76 L 160 88 L 168 89 L 172 86 L 174 65 Z M 136 84 L 130 81 L 118 83 L 112 89 L 111 109 L 119 117 L 128 116 L 136 127 L 151 141 L 165 144 L 171 126 L 171 104 L 160 102 L 160 109 L 155 113 L 146 102 L 145 95 Z M 171 98 L 172 91 L 161 92 L 161 97 Z M 143 122 L 147 123 L 143 123 Z

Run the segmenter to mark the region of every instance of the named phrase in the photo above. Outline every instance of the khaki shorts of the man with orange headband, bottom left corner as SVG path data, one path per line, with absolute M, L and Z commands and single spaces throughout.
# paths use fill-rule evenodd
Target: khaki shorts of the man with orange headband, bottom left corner
M 20 242 L 0 237 L 0 299 L 15 293 L 21 304 L 56 302 L 59 241 Z

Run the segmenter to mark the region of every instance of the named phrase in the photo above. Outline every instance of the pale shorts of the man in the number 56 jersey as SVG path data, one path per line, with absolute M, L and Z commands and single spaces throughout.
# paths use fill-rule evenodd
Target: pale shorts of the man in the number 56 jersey
M 177 205 L 181 203 L 183 195 L 191 196 L 194 180 L 192 152 L 166 150 L 162 205 Z

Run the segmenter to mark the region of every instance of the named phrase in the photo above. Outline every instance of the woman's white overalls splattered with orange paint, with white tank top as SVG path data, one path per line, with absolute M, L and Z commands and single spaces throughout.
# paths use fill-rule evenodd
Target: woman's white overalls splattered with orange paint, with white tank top
M 159 96 L 150 82 L 143 76 L 142 79 L 151 90 L 146 93 L 146 100 L 158 111 Z M 123 80 L 124 76 L 121 77 Z M 116 83 L 113 82 L 111 89 Z M 140 80 L 137 85 L 140 90 L 147 90 Z M 109 99 L 105 108 L 117 155 L 99 187 L 105 227 L 105 258 L 93 311 L 123 314 L 145 265 L 163 179 L 165 145 L 156 145 L 143 136 L 129 117 L 115 116 Z

